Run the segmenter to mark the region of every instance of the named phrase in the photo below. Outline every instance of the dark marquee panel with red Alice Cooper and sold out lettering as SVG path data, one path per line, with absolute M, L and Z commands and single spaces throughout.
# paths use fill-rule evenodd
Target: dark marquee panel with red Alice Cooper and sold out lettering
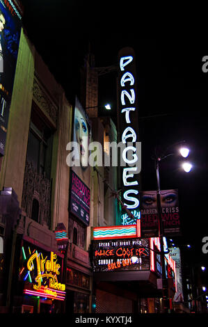
M 148 239 L 93 241 L 93 271 L 141 271 L 150 269 Z

